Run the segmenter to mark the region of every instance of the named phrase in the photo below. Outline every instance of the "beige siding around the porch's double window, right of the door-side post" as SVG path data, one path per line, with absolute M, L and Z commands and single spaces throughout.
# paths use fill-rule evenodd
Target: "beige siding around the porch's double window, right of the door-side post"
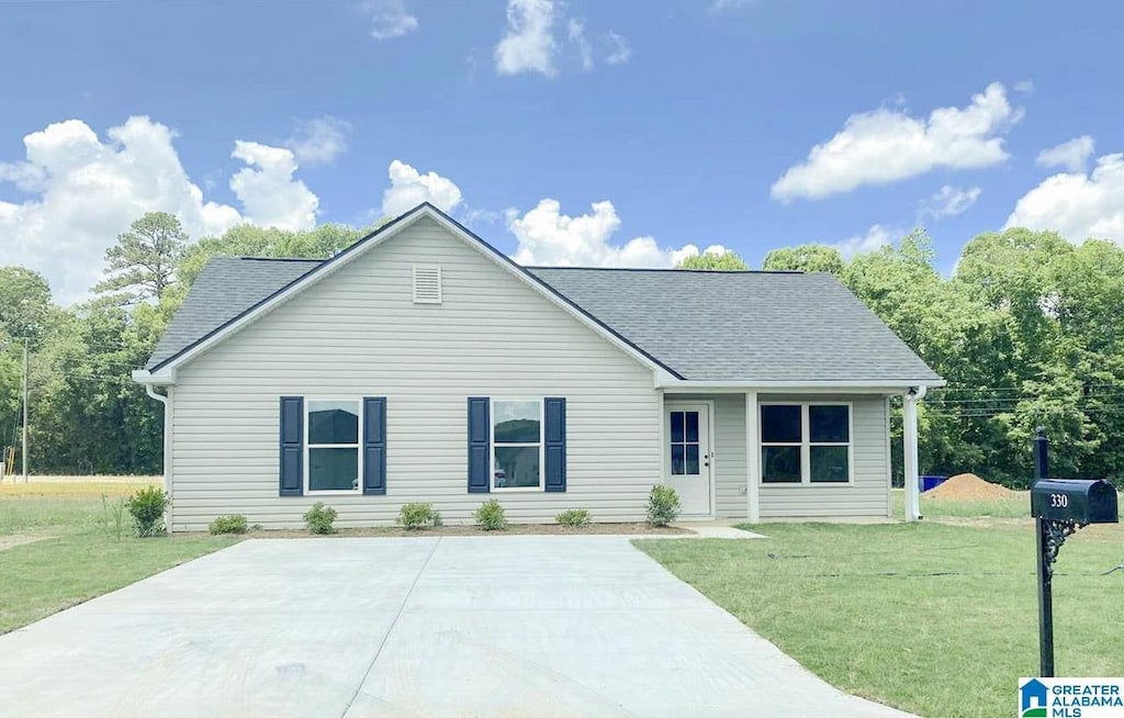
M 890 491 L 886 440 L 886 399 L 877 396 L 773 396 L 761 394 L 760 403 L 770 401 L 849 401 L 852 407 L 851 437 L 853 483 L 761 484 L 761 517 L 886 516 Z

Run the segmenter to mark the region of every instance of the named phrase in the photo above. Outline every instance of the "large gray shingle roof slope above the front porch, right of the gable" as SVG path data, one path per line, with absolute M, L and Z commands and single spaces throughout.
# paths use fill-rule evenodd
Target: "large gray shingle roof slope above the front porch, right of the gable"
M 940 379 L 831 274 L 528 271 L 687 379 Z

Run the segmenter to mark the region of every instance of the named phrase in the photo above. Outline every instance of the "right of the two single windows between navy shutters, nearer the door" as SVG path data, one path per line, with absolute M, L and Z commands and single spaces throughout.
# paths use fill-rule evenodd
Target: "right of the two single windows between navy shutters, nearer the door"
M 493 399 L 492 488 L 543 488 L 543 402 Z

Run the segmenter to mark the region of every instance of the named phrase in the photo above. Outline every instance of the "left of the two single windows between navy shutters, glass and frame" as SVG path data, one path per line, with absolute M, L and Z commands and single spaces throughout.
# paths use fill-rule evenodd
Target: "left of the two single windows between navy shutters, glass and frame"
M 306 493 L 360 490 L 360 402 L 308 401 Z

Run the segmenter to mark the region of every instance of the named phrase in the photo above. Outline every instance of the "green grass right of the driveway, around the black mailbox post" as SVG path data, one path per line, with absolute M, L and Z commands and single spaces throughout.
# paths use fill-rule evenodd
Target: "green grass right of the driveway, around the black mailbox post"
M 635 543 L 844 691 L 922 716 L 1003 716 L 1018 678 L 1039 672 L 1034 533 L 1012 520 L 1027 515 L 1024 499 L 930 500 L 921 524 L 765 524 L 753 530 L 767 540 Z M 1004 520 L 942 520 L 979 511 Z M 1124 675 L 1124 572 L 1102 575 L 1122 561 L 1118 526 L 1062 548 L 1060 675 Z

